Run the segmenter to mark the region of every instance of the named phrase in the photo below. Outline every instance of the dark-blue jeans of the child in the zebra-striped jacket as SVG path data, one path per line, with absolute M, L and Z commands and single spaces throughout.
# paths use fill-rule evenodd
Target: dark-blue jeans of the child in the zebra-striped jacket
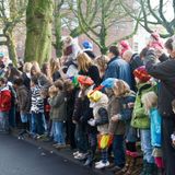
M 44 135 L 46 129 L 45 116 L 43 113 L 32 113 L 31 116 L 31 132 L 33 135 Z

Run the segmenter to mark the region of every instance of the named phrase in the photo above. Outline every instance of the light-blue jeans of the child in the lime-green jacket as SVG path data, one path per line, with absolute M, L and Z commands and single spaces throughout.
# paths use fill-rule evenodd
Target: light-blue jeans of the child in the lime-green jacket
M 149 129 L 141 129 L 140 137 L 143 160 L 145 160 L 148 163 L 154 163 L 154 159 L 152 156 L 151 131 Z

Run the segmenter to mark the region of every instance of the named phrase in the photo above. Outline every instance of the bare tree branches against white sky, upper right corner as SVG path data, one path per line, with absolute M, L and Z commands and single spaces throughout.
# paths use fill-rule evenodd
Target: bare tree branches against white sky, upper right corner
M 175 0 L 159 0 L 156 2 L 137 0 L 135 8 L 129 7 L 122 0 L 119 1 L 128 15 L 139 21 L 139 24 L 149 33 L 152 33 L 155 26 L 162 26 L 164 30 L 159 31 L 162 37 L 166 38 L 175 34 Z M 172 14 L 171 18 L 167 14 Z

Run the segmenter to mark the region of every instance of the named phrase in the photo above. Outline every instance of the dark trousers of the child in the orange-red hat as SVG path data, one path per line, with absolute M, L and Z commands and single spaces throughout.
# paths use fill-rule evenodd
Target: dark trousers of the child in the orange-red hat
M 86 153 L 88 152 L 88 136 L 85 133 L 85 129 L 82 124 L 75 125 L 75 141 L 77 141 L 77 147 L 79 151 L 82 153 Z

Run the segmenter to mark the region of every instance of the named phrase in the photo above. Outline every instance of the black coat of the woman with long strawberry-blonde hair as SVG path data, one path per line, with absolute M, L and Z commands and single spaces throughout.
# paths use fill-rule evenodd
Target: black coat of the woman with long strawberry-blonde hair
M 90 77 L 94 81 L 95 85 L 100 85 L 101 83 L 100 71 L 96 66 L 91 66 L 88 72 L 81 70 L 79 74 Z

